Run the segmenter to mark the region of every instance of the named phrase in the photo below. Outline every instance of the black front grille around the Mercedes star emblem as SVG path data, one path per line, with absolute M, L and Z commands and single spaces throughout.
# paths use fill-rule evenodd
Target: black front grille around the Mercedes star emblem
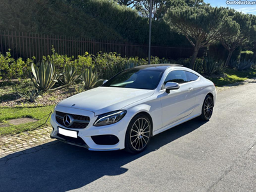
M 67 127 L 63 123 L 63 117 L 65 115 L 70 115 L 70 116 L 72 116 L 72 118 L 74 118 L 73 124 L 70 125 L 68 128 L 84 129 L 87 127 L 87 125 L 90 122 L 89 116 L 74 115 L 74 114 L 69 114 L 69 113 L 63 113 L 60 111 L 55 111 L 55 113 L 56 113 L 56 121 L 58 122 L 58 124 L 62 125 L 63 127 Z

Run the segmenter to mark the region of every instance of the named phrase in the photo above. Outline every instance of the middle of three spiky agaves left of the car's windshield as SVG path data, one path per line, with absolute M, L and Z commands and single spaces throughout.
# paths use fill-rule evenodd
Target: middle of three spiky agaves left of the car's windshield
M 75 83 L 79 79 L 79 77 L 81 77 L 81 75 L 77 74 L 77 70 L 75 67 L 66 65 L 63 68 L 63 76 L 62 76 L 62 79 L 60 79 L 60 81 L 63 84 L 70 85 L 70 84 Z

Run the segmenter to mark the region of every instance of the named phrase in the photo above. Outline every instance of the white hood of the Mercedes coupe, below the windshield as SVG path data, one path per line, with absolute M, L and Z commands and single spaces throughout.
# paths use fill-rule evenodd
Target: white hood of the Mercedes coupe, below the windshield
M 92 111 L 96 116 L 122 109 L 133 102 L 150 97 L 153 93 L 154 90 L 100 86 L 69 97 L 58 106 Z

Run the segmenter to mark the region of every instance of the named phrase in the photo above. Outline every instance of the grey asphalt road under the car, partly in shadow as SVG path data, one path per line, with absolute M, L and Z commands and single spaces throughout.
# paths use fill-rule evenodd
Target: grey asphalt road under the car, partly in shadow
M 142 154 L 59 141 L 0 159 L 0 191 L 256 191 L 256 83 L 218 93 L 211 120 L 191 120 Z

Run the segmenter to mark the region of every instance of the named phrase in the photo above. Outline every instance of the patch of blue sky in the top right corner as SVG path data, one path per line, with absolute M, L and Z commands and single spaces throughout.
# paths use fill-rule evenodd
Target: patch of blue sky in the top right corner
M 228 1 L 234 1 L 234 0 L 228 0 Z M 205 3 L 210 3 L 211 6 L 223 6 L 223 7 L 230 7 L 234 8 L 238 12 L 248 13 L 256 15 L 256 0 L 249 0 L 252 4 L 227 4 L 226 0 L 204 0 Z M 238 3 L 238 1 L 237 1 Z M 242 1 L 244 3 L 244 1 Z

